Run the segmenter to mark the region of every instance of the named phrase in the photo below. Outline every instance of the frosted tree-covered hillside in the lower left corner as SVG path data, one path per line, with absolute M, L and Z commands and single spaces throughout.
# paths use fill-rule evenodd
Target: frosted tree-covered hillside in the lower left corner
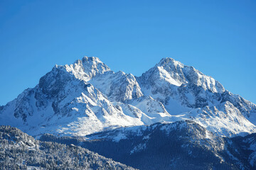
M 41 142 L 0 126 L 1 169 L 133 169 L 75 145 Z

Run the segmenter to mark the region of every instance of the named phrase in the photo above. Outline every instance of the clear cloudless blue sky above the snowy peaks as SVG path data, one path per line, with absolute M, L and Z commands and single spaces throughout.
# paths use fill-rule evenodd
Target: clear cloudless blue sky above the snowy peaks
M 0 1 L 0 105 L 55 64 L 140 76 L 163 57 L 256 103 L 256 1 Z

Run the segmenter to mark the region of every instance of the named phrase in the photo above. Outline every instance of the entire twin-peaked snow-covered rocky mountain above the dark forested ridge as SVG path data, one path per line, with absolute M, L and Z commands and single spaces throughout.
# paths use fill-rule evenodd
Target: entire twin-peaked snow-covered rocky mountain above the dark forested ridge
M 58 66 L 0 107 L 0 125 L 29 135 L 88 135 L 123 126 L 193 120 L 217 135 L 256 132 L 256 105 L 171 58 L 134 77 L 97 57 Z

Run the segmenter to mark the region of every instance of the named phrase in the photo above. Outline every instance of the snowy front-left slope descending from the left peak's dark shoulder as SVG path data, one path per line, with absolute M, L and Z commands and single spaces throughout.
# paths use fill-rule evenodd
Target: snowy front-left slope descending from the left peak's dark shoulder
M 112 126 L 143 124 L 119 111 L 102 92 L 78 79 L 78 74 L 69 68 L 55 66 L 40 79 L 38 86 L 8 103 L 1 111 L 1 124 L 16 126 L 31 135 L 44 132 L 86 135 Z M 95 75 L 85 72 L 88 68 L 80 70 L 90 77 Z

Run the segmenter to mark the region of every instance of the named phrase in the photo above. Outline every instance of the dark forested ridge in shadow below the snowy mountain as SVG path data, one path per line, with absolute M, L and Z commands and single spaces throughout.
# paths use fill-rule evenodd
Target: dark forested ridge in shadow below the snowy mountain
M 256 133 L 220 137 L 193 120 L 40 140 L 78 145 L 138 169 L 255 169 Z

